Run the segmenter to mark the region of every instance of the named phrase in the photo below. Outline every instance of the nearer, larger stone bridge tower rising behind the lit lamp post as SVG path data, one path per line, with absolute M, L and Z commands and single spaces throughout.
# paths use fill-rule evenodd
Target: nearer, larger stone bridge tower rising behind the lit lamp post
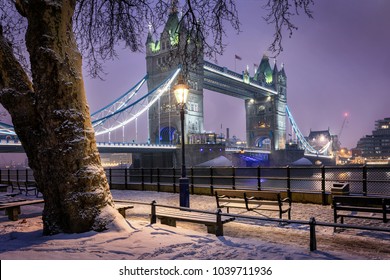
M 167 23 L 159 40 L 153 39 L 151 30 L 147 37 L 146 68 L 149 75 L 149 90 L 160 85 L 177 69 L 178 65 L 182 64 L 180 56 L 173 52 L 179 47 L 180 34 L 186 34 L 186 30 L 180 24 L 177 3 L 172 1 Z M 198 55 L 197 61 L 191 69 L 188 69 L 185 76 L 190 87 L 184 124 L 186 142 L 190 134 L 203 132 L 203 54 Z M 159 102 L 149 109 L 150 142 L 176 144 L 180 141 L 180 129 L 179 107 L 176 104 L 172 86 L 169 93 L 164 93 Z

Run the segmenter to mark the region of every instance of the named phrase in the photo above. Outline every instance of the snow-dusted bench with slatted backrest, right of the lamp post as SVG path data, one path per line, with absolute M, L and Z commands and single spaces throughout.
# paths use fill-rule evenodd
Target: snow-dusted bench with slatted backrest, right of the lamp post
M 214 190 L 218 208 L 240 208 L 246 211 L 278 211 L 279 218 L 287 213 L 291 219 L 291 200 L 280 192 L 250 190 Z

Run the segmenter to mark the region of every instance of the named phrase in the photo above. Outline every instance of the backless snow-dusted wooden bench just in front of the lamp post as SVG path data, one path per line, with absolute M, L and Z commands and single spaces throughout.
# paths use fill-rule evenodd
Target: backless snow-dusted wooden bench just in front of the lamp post
M 176 221 L 204 224 L 207 232 L 216 236 L 223 236 L 223 225 L 233 221 L 233 217 L 224 217 L 220 209 L 216 213 L 201 213 L 190 210 L 179 210 L 158 207 L 158 210 L 151 215 L 151 224 L 159 219 L 161 224 L 176 227 Z

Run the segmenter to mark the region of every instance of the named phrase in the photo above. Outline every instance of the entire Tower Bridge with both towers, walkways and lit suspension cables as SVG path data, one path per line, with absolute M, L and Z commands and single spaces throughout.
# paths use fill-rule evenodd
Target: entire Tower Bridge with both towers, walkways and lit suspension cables
M 178 47 L 177 41 L 174 40 L 177 30 L 182 30 L 178 27 L 180 22 L 178 16 L 173 9 L 158 40 L 154 40 L 152 34 L 149 33 L 146 41 L 147 74 L 119 98 L 91 115 L 96 136 L 108 135 L 109 140 L 106 143 L 98 143 L 101 152 L 149 154 L 170 152 L 172 153 L 171 161 L 175 164 L 176 158 L 180 158 L 175 155 L 179 152 L 177 149 L 177 145 L 180 144 L 179 135 L 184 133 L 187 136 L 185 141 L 189 143 L 189 139 L 194 135 L 205 133 L 203 90 L 207 89 L 245 101 L 247 146 L 244 149 L 223 147 L 224 152 L 246 153 L 254 157 L 262 154 L 262 160 L 264 158 L 268 160 L 269 155 L 278 154 L 286 149 L 288 119 L 298 144 L 301 149 L 305 150 L 305 153 L 327 156 L 329 144 L 327 147 L 315 149 L 300 132 L 287 106 L 285 69 L 283 65 L 280 69 L 276 64 L 271 67 L 269 58 L 265 55 L 261 58 L 253 76 L 250 76 L 248 71 L 237 73 L 226 67 L 204 61 L 203 56 L 199 55 L 197 64 L 190 68 L 186 76 L 190 95 L 184 131 L 180 131 L 179 108 L 173 94 L 173 86 L 181 71 L 180 61 L 178 58 L 167 59 L 172 49 Z M 147 91 L 144 90 L 145 85 L 147 85 Z M 148 118 L 147 128 L 143 128 L 148 130 L 148 138 L 144 141 L 137 141 L 137 144 L 128 143 L 124 133 L 125 126 L 137 123 L 137 119 L 143 115 L 147 115 Z M 111 141 L 111 134 L 115 131 L 122 132 L 121 143 Z M 16 135 L 11 125 L 0 124 L 0 134 L 3 135 L 3 139 L 8 138 L 8 141 L 0 143 L 0 151 L 20 151 L 20 144 L 13 145 L 12 140 L 9 139 Z M 205 149 L 195 145 L 188 152 L 193 152 L 192 157 L 197 158 L 195 151 L 203 150 Z M 215 151 L 220 153 L 221 148 Z M 207 157 L 216 155 L 213 152 Z M 203 161 L 210 159 L 207 157 L 202 154 L 198 156 L 198 160 L 199 158 Z

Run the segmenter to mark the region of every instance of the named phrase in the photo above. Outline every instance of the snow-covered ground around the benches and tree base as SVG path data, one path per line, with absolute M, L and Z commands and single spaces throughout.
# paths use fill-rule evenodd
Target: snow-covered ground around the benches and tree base
M 115 199 L 178 205 L 172 193 L 113 190 Z M 191 195 L 191 207 L 215 210 L 215 199 Z M 127 210 L 127 232 L 42 235 L 42 205 L 22 207 L 18 221 L 0 216 L 1 260 L 390 260 L 390 233 L 317 227 L 317 250 L 309 250 L 304 225 L 234 221 L 224 236 L 207 234 L 203 225 L 150 225 L 150 206 Z M 275 217 L 276 213 L 264 213 Z M 292 219 L 332 222 L 330 206 L 293 203 Z M 360 219 L 357 223 L 377 223 Z M 379 222 L 378 226 L 389 226 Z

